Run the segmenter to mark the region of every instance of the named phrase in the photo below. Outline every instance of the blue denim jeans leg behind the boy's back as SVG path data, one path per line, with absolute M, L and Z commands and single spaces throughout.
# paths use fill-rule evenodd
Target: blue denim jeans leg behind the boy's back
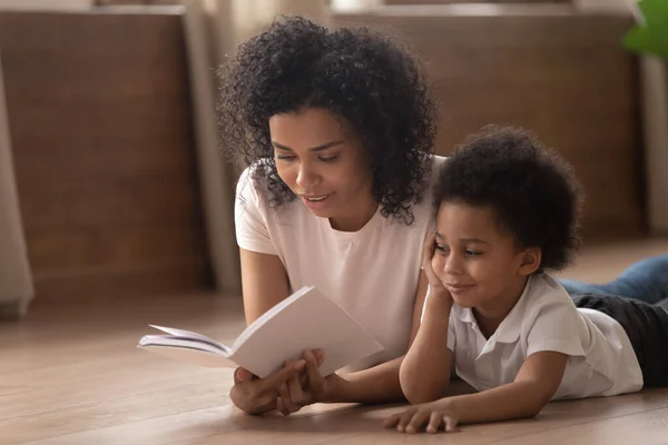
M 655 304 L 668 299 L 668 255 L 642 259 L 607 284 L 586 284 L 561 279 L 570 295 L 611 294 Z

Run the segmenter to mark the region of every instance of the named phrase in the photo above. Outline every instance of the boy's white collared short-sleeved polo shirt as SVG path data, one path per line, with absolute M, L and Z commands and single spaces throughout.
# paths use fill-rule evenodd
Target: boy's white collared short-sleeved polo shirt
M 473 313 L 456 303 L 448 348 L 456 374 L 478 390 L 512 383 L 533 353 L 569 356 L 552 399 L 612 396 L 642 388 L 642 372 L 621 325 L 598 310 L 577 308 L 548 274 L 532 275 L 497 332 L 485 339 Z

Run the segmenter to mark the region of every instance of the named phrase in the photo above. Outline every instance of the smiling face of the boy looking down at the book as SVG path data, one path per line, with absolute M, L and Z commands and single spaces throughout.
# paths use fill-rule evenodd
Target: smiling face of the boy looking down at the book
M 519 248 L 513 235 L 499 229 L 491 207 L 441 204 L 432 267 L 460 306 L 514 304 L 539 264 L 538 249 Z

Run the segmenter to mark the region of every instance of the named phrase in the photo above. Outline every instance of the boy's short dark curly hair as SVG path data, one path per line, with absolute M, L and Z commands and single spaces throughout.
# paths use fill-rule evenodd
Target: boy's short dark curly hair
M 490 206 L 501 229 L 542 251 L 538 271 L 568 266 L 578 238 L 582 188 L 572 167 L 515 127 L 487 126 L 448 159 L 434 194 L 443 201 Z

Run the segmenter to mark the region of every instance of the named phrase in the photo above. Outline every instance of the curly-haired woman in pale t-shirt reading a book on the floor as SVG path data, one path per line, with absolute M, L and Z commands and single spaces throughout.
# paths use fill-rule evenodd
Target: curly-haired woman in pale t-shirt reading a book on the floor
M 430 154 L 436 108 L 416 60 L 369 30 L 289 18 L 242 44 L 219 77 L 222 139 L 246 166 L 235 210 L 246 322 L 314 285 L 385 347 L 325 378 L 310 350 L 264 379 L 237 369 L 233 403 L 287 415 L 403 399 L 399 366 L 426 291 L 422 245 L 443 162 Z

